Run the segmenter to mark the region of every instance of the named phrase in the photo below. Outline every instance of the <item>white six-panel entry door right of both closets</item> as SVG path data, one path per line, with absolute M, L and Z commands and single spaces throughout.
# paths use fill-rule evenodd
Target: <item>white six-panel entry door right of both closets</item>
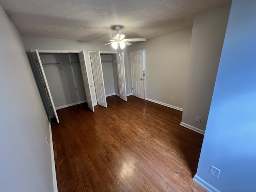
M 131 52 L 132 66 L 132 92 L 133 95 L 143 99 L 143 51 Z

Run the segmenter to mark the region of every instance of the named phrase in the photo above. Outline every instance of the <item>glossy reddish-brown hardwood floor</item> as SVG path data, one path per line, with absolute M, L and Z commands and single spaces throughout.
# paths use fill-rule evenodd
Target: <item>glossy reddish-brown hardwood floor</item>
M 192 180 L 203 135 L 182 112 L 128 96 L 57 111 L 52 125 L 59 192 L 205 192 Z

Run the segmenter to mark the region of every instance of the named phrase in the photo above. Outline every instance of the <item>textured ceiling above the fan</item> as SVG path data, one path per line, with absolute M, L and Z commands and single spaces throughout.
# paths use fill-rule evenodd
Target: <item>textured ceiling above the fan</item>
M 23 36 L 73 40 L 154 38 L 192 27 L 193 16 L 231 0 L 0 0 Z

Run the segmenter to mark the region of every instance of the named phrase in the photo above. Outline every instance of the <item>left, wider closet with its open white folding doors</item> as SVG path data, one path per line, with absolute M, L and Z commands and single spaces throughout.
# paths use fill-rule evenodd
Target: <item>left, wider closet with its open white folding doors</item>
M 84 51 L 30 50 L 32 69 L 48 120 L 59 123 L 56 109 L 87 102 L 92 104 L 92 80 Z M 89 75 L 88 75 L 89 74 Z

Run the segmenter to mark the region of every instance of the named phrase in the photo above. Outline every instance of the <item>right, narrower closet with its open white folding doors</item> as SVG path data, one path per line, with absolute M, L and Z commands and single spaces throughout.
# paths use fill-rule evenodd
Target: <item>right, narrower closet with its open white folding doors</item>
M 107 107 L 106 97 L 117 95 L 127 101 L 124 55 L 88 51 L 98 105 Z

